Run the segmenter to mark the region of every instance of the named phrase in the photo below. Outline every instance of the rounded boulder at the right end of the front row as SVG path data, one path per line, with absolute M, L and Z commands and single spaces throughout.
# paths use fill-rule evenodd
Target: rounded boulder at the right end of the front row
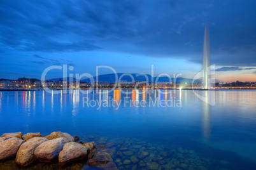
M 63 150 L 59 154 L 60 164 L 68 164 L 70 162 L 81 160 L 87 157 L 87 148 L 80 143 L 69 142 L 63 147 Z

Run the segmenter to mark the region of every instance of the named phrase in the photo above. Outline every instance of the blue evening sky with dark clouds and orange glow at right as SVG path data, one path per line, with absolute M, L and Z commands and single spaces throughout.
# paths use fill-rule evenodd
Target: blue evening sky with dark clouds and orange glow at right
M 0 78 L 182 74 L 202 69 L 206 23 L 218 81 L 256 81 L 255 0 L 0 1 Z M 99 69 L 99 74 L 113 73 Z M 62 76 L 50 70 L 46 78 Z

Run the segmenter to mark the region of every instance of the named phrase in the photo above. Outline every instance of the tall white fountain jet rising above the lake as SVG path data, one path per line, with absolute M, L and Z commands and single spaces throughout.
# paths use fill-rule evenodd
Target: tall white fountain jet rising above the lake
M 208 75 L 210 73 L 210 46 L 209 46 L 209 31 L 208 25 L 205 25 L 204 30 L 204 51 L 203 51 L 203 89 L 209 89 L 210 83 L 208 79 Z

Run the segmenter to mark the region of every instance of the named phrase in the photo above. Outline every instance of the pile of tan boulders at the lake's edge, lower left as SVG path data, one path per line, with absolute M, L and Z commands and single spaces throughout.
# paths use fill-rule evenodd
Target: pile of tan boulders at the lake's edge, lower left
M 4 133 L 0 137 L 0 161 L 15 158 L 18 166 L 27 167 L 39 162 L 58 161 L 60 166 L 66 166 L 87 160 L 89 166 L 117 169 L 111 155 L 104 149 L 97 150 L 94 141 L 83 143 L 78 140 L 78 136 L 60 131 L 47 136 L 41 133 Z

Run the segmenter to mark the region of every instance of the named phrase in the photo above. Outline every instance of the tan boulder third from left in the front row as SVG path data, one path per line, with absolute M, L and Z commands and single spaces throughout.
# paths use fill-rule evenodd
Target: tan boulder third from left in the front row
M 59 155 L 66 142 L 66 138 L 45 141 L 36 148 L 34 155 L 40 162 L 51 162 Z

